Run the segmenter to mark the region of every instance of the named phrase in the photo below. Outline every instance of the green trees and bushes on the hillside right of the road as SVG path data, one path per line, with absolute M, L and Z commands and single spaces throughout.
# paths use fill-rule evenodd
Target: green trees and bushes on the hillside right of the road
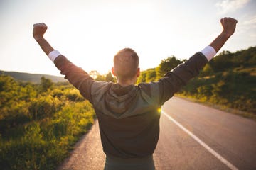
M 157 81 L 181 62 L 184 60 L 168 57 L 158 67 L 142 72 L 138 83 Z M 177 96 L 256 120 L 256 47 L 234 53 L 221 52 Z

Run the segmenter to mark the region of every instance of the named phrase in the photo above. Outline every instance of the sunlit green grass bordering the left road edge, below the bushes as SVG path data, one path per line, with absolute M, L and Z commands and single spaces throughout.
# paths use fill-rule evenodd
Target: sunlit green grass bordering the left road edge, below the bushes
M 10 129 L 8 137 L 0 137 L 1 169 L 55 169 L 94 118 L 90 103 L 70 103 L 53 118 Z

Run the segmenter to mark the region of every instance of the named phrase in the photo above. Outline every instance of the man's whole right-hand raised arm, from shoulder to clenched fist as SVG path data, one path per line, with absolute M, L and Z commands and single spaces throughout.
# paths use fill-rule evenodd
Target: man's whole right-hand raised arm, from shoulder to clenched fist
M 223 26 L 223 31 L 210 45 L 201 50 L 201 52 L 197 52 L 185 63 L 178 65 L 178 67 L 171 70 L 171 72 L 167 72 L 164 78 L 159 80 L 161 103 L 169 100 L 169 98 L 179 91 L 182 86 L 185 86 L 190 79 L 199 74 L 206 63 L 214 57 L 228 38 L 233 35 L 237 22 L 238 21 L 233 18 L 222 18 L 220 23 Z

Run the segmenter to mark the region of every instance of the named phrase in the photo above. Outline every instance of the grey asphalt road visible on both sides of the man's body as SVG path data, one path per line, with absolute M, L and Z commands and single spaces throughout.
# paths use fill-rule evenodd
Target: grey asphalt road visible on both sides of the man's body
M 58 170 L 103 169 L 98 123 Z M 256 169 L 256 122 L 171 98 L 162 107 L 156 169 Z

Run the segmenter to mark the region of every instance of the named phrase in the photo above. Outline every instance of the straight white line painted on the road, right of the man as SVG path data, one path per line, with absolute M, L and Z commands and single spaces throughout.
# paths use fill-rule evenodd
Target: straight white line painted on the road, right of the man
M 206 150 L 208 150 L 208 152 L 210 152 L 211 154 L 213 154 L 216 158 L 218 158 L 220 160 L 220 162 L 223 162 L 223 164 L 225 164 L 226 166 L 228 166 L 230 169 L 232 170 L 238 170 L 237 167 L 235 167 L 233 164 L 231 164 L 230 162 L 228 162 L 227 159 L 221 157 L 220 154 L 218 154 L 217 152 L 215 152 L 215 150 L 211 149 L 208 145 L 206 145 L 205 142 L 203 142 L 202 140 L 200 140 L 198 137 L 196 137 L 196 135 L 193 135 L 192 132 L 190 132 L 189 130 L 187 130 L 186 128 L 183 127 L 183 125 L 181 125 L 180 123 L 178 123 L 176 120 L 174 120 L 174 118 L 171 117 L 171 115 L 168 115 L 167 113 L 165 113 L 165 111 L 161 110 L 161 113 L 164 114 L 167 118 L 169 118 L 169 120 L 173 121 L 176 125 L 178 125 L 179 128 L 181 128 L 182 130 L 184 130 L 188 135 L 190 135 L 194 140 L 196 140 L 196 142 L 198 142 L 201 146 L 203 146 L 204 148 L 206 148 Z

